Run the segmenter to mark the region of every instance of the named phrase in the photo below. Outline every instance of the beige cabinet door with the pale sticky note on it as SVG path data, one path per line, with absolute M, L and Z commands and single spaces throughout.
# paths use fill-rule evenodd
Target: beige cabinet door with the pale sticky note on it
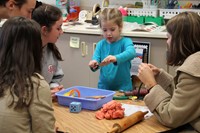
M 78 34 L 63 34 L 57 46 L 64 61 L 61 61 L 61 67 L 64 71 L 62 84 L 65 88 L 71 86 L 88 86 L 89 85 L 89 57 L 87 53 L 82 56 L 82 46 L 80 39 L 79 48 L 70 47 L 70 37 L 79 37 Z M 86 46 L 86 45 L 85 45 Z M 87 47 L 87 46 L 86 46 Z M 87 51 L 86 51 L 87 52 Z

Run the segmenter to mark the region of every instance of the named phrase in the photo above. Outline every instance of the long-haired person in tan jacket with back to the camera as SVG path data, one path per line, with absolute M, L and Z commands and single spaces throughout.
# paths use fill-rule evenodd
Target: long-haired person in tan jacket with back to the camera
M 0 36 L 2 133 L 55 132 L 50 88 L 39 74 L 41 60 L 40 26 L 24 17 L 8 19 Z

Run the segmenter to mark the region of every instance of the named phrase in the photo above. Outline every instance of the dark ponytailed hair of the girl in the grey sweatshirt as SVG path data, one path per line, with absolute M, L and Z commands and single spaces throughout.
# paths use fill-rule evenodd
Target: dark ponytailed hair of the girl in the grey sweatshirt
M 62 17 L 62 12 L 59 8 L 44 3 L 35 8 L 35 10 L 32 13 L 32 19 L 38 22 L 41 27 L 46 26 L 49 32 L 51 31 L 52 26 L 61 17 Z M 48 48 L 54 53 L 54 55 L 58 60 L 60 61 L 63 60 L 55 44 L 48 43 Z

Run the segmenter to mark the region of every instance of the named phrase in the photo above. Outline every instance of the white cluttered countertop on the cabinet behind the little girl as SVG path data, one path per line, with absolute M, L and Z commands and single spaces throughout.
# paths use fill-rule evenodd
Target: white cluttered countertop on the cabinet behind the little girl
M 122 35 L 129 37 L 142 37 L 142 38 L 167 38 L 167 32 L 165 31 L 165 26 L 156 26 L 141 28 L 138 24 L 135 23 L 124 23 Z M 90 23 L 64 23 L 63 31 L 65 33 L 74 33 L 74 34 L 92 34 L 92 35 L 101 35 L 101 29 L 98 25 L 92 25 Z M 145 29 L 145 30 L 144 30 Z M 146 31 L 149 29 L 149 31 Z M 152 30 L 153 29 L 153 30 Z

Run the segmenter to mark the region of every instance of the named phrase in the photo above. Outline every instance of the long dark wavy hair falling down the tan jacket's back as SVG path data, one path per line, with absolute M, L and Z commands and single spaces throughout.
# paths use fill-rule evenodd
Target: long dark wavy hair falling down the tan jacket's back
M 9 106 L 22 108 L 32 98 L 33 81 L 41 72 L 42 40 L 40 25 L 24 17 L 8 19 L 0 36 L 0 97 L 9 89 L 13 98 Z M 38 80 L 39 85 L 39 80 Z M 14 97 L 18 101 L 14 103 Z

